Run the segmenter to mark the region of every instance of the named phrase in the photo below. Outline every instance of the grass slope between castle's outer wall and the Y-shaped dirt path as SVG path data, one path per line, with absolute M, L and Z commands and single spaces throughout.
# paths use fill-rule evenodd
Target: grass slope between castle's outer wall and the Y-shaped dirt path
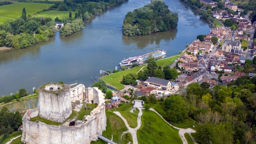
M 113 135 L 113 141 L 117 143 L 125 143 L 126 141 L 128 141 L 129 139 L 121 140 L 122 133 L 128 130 L 123 120 L 120 117 L 118 117 L 115 113 L 111 112 L 109 109 L 106 109 L 106 116 L 107 116 L 107 127 L 106 127 L 106 131 L 103 132 L 103 136 L 111 139 Z M 129 135 L 125 137 L 128 138 Z M 92 141 L 91 144 L 106 144 L 106 142 L 99 139 L 96 142 Z

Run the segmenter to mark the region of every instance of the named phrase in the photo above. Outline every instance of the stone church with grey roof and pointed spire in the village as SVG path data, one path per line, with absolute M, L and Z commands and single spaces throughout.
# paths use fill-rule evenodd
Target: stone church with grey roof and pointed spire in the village
M 224 40 L 221 49 L 226 52 L 231 52 L 243 56 L 243 48 L 241 48 L 242 44 L 239 40 L 235 40 L 234 31 L 235 30 L 233 30 L 231 40 Z

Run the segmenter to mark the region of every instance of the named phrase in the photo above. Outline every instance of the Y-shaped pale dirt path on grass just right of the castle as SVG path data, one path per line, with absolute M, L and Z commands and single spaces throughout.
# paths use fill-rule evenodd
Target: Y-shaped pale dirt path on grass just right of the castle
M 126 133 L 131 133 L 132 137 L 133 137 L 133 144 L 138 144 L 138 139 L 137 139 L 137 130 L 140 128 L 141 126 L 141 115 L 142 115 L 142 108 L 138 108 L 139 109 L 139 114 L 138 114 L 138 118 L 137 118 L 137 127 L 136 128 L 130 128 L 130 126 L 127 123 L 127 120 L 119 113 L 119 112 L 114 112 L 115 114 L 117 114 L 117 116 L 121 117 L 122 120 L 125 123 L 125 126 L 128 128 L 128 131 L 123 132 L 122 136 Z

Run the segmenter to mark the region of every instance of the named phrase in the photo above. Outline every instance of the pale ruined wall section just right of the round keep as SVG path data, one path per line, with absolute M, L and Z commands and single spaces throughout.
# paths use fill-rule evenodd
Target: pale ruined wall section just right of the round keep
M 83 84 L 78 84 L 76 87 L 71 89 L 71 100 L 81 100 L 85 94 L 85 86 Z

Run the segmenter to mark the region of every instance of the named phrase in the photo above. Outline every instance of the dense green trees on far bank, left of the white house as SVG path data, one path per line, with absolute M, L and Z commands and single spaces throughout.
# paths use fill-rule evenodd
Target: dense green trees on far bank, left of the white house
M 54 33 L 55 23 L 51 18 L 27 19 L 24 8 L 20 18 L 0 24 L 0 46 L 26 48 L 48 41 Z

